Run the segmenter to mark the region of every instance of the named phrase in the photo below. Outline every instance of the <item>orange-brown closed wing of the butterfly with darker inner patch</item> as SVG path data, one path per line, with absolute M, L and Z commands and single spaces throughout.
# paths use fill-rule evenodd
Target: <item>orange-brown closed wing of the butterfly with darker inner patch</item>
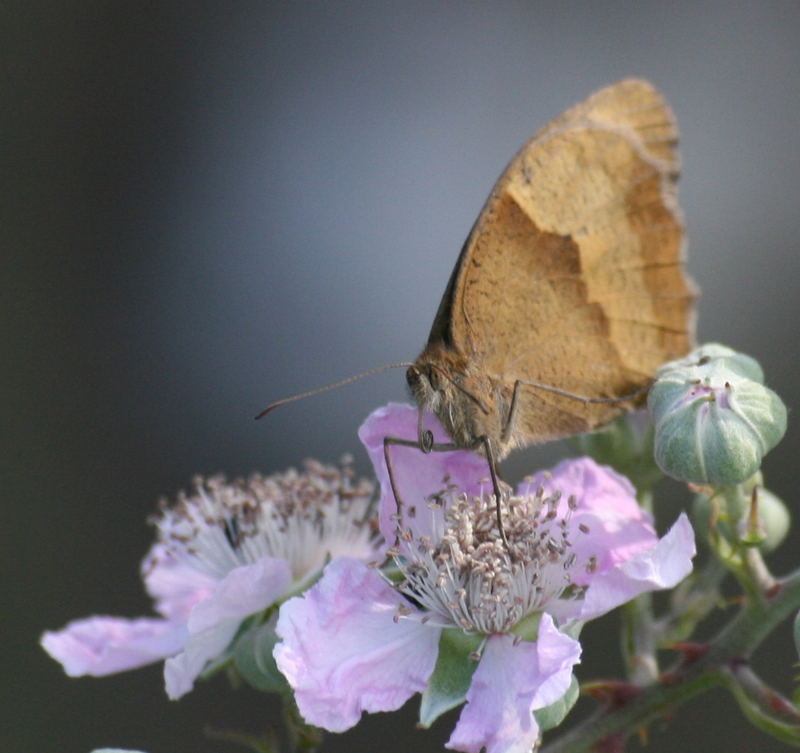
M 646 385 L 693 338 L 674 117 L 647 82 L 603 89 L 514 157 L 472 229 L 429 346 L 503 385 L 586 397 Z M 517 444 L 601 426 L 626 407 L 524 388 Z

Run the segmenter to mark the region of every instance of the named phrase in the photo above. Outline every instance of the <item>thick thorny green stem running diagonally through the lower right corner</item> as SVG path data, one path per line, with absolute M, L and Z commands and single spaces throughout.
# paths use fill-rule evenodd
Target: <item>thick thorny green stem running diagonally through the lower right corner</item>
M 541 753 L 581 753 L 610 736 L 628 736 L 677 704 L 727 681 L 730 666 L 747 661 L 761 642 L 786 617 L 800 608 L 800 570 L 778 581 L 758 599 L 749 599 L 737 615 L 709 644 L 708 651 L 691 664 L 679 664 L 658 685 L 641 689 L 622 706 L 599 710 L 566 732 Z

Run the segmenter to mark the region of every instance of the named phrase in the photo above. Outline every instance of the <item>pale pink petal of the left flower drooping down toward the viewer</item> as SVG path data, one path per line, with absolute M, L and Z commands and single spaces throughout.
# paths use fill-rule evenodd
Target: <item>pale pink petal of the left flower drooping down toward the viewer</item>
M 276 557 L 231 570 L 192 609 L 184 650 L 164 664 L 167 695 L 175 700 L 188 693 L 206 664 L 228 647 L 241 621 L 278 601 L 290 583 L 289 563 Z

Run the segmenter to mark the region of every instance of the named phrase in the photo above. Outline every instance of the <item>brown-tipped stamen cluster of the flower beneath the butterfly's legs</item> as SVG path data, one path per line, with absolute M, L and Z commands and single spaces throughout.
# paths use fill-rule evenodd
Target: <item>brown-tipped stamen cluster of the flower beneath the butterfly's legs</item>
M 526 496 L 504 494 L 503 538 L 493 494 L 435 495 L 430 536 L 416 536 L 398 520 L 392 552 L 404 576 L 398 588 L 427 610 L 426 619 L 482 634 L 508 632 L 552 599 L 578 595 L 571 573 L 591 562 L 577 563 L 570 536 L 588 528 L 570 525 L 575 498 L 566 506 L 560 499 L 541 486 Z

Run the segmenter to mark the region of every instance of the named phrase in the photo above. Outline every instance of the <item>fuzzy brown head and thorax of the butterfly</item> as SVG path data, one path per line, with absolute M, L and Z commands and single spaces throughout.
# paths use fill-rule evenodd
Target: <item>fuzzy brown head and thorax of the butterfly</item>
M 417 405 L 437 416 L 455 444 L 479 450 L 477 440 L 486 436 L 495 456 L 502 457 L 506 390 L 475 366 L 452 348 L 431 344 L 406 379 Z

